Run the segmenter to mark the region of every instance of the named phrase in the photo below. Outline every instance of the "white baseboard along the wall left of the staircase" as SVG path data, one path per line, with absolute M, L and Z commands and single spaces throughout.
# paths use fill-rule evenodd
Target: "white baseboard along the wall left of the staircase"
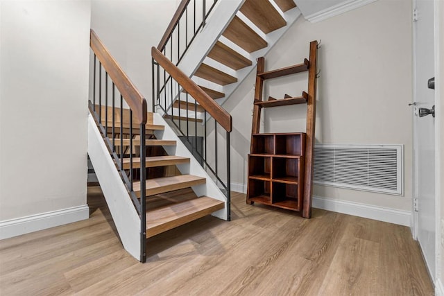
M 42 214 L 0 221 L 0 239 L 37 232 L 89 218 L 87 204 L 78 207 L 49 211 Z

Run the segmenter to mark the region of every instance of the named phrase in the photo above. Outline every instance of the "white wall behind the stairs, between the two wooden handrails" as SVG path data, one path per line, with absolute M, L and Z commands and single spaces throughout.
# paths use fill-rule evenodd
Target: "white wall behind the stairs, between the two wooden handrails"
M 151 46 L 167 29 L 178 0 L 92 0 L 91 28 L 139 89 L 151 111 Z

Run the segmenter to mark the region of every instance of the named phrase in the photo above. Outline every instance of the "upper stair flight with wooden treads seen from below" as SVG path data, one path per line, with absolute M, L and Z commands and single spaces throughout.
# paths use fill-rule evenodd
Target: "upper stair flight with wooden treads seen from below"
M 172 36 L 187 33 L 182 28 L 186 16 L 183 11 L 189 3 L 182 1 L 157 49 L 219 105 L 223 105 L 248 73 L 255 69 L 257 58 L 266 55 L 300 16 L 293 0 L 216 1 L 192 42 L 178 44 Z M 177 26 L 178 22 L 182 22 L 181 27 Z M 178 46 L 177 56 L 175 50 L 169 50 L 173 46 Z M 154 63 L 153 73 L 156 66 Z M 187 100 L 184 94 L 174 94 L 173 100 L 162 101 L 165 94 L 162 82 L 160 85 L 157 94 L 153 93 L 153 97 L 157 98 L 153 104 L 157 105 L 157 112 L 169 119 L 176 116 L 174 119 L 180 121 L 186 121 L 186 118 L 203 121 L 203 111 L 194 108 L 196 102 Z

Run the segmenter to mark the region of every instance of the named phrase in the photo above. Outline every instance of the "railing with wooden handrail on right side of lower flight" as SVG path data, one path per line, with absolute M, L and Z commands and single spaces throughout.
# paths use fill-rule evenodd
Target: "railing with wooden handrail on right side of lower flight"
M 232 118 L 165 55 L 154 47 L 151 53 L 157 110 L 225 194 L 230 220 Z M 169 74 L 168 80 L 163 80 L 161 69 Z

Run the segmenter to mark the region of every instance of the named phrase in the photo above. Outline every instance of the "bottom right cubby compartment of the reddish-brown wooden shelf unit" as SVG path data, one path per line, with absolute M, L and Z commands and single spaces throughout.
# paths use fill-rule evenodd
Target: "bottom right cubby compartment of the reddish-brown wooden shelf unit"
M 299 191 L 299 187 L 296 184 L 273 182 L 272 204 L 276 207 L 282 207 L 283 209 L 299 211 Z

